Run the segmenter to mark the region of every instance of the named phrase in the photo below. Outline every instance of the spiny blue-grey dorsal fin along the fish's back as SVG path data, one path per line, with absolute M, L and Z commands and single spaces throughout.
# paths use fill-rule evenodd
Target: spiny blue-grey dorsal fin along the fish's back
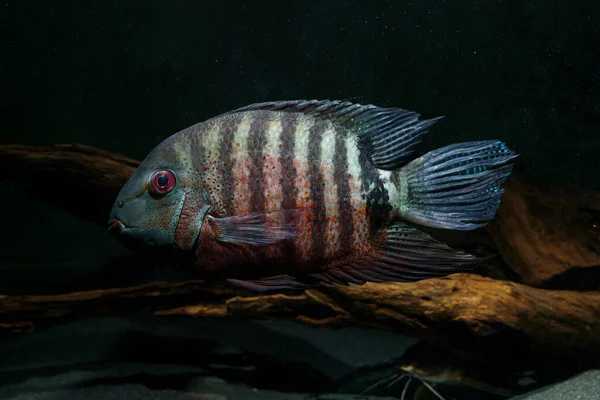
M 443 117 L 419 121 L 420 114 L 401 108 L 382 108 L 341 100 L 289 100 L 250 104 L 226 114 L 244 111 L 284 111 L 326 119 L 354 133 L 361 150 L 375 167 L 395 170 L 404 166 L 420 137 Z

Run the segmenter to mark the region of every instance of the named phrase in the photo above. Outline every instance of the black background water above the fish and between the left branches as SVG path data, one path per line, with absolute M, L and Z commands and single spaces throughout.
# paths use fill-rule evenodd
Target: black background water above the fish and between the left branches
M 249 103 L 353 99 L 447 116 L 427 150 L 502 139 L 521 153 L 519 172 L 597 189 L 597 3 L 4 2 L 0 142 L 79 142 L 141 159 Z M 4 266 L 121 251 L 103 228 L 5 189 Z

